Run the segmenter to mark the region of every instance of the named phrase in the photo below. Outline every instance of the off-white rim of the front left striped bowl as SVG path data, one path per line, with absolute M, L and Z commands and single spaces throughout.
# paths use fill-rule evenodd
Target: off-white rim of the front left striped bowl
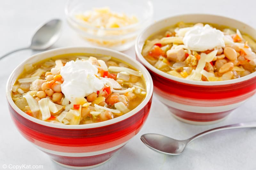
M 91 49 L 91 50 L 95 51 L 95 53 L 94 53 L 95 55 L 99 54 L 99 53 L 96 52 L 97 50 L 102 50 L 102 51 L 106 51 L 106 52 L 110 52 L 110 53 L 115 53 L 116 56 L 113 56 L 113 57 L 118 58 L 120 60 L 123 60 L 122 58 L 126 58 L 126 59 L 130 60 L 129 64 L 131 64 L 131 65 L 132 65 L 132 63 L 136 63 L 138 65 L 138 68 L 136 68 L 136 67 L 135 68 L 142 72 L 142 75 L 145 79 L 145 83 L 146 83 L 146 86 L 147 86 L 146 87 L 147 94 L 146 94 L 145 99 L 137 107 L 135 107 L 133 110 L 131 110 L 130 112 L 128 112 L 128 113 L 126 113 L 122 116 L 116 117 L 116 118 L 108 120 L 108 121 L 91 123 L 91 124 L 82 124 L 82 125 L 64 125 L 64 124 L 56 124 L 56 123 L 45 122 L 45 121 L 36 119 L 32 116 L 29 116 L 25 112 L 20 110 L 20 108 L 15 105 L 15 103 L 13 102 L 12 97 L 11 97 L 11 90 L 12 90 L 11 89 L 12 88 L 11 80 L 13 79 L 14 75 L 16 75 L 16 70 L 18 70 L 20 67 L 22 67 L 25 63 L 29 62 L 29 60 L 31 58 L 36 58 L 40 55 L 45 55 L 45 54 L 48 54 L 48 53 L 49 53 L 49 58 L 50 58 L 52 56 L 55 56 L 54 52 L 63 51 L 63 50 L 75 50 L 75 49 Z M 74 53 L 75 53 L 75 51 L 74 51 Z M 63 54 L 72 54 L 72 53 L 63 53 Z M 93 54 L 93 53 L 90 53 L 90 54 Z M 38 61 L 40 61 L 40 60 L 38 60 Z M 19 75 L 20 75 L 20 73 L 19 73 Z M 115 50 L 111 50 L 111 49 L 108 49 L 108 48 L 100 48 L 100 47 L 63 47 L 63 48 L 55 48 L 55 49 L 44 51 L 42 53 L 34 54 L 34 55 L 30 56 L 29 58 L 27 58 L 22 63 L 20 63 L 12 71 L 12 73 L 10 74 L 10 76 L 7 80 L 6 88 L 5 88 L 5 94 L 6 94 L 7 101 L 9 103 L 9 105 L 12 107 L 12 109 L 14 109 L 14 111 L 17 112 L 19 115 L 21 115 L 23 118 L 28 119 L 31 122 L 34 122 L 34 123 L 37 123 L 37 124 L 40 124 L 40 125 L 44 125 L 44 126 L 48 126 L 48 127 L 52 127 L 52 128 L 59 128 L 59 129 L 91 129 L 91 128 L 104 127 L 104 126 L 108 126 L 108 125 L 111 125 L 111 124 L 115 124 L 117 122 L 121 122 L 121 121 L 135 115 L 136 113 L 138 113 L 141 109 L 143 109 L 143 107 L 145 107 L 148 104 L 148 102 L 152 98 L 152 95 L 153 95 L 153 81 L 152 81 L 152 78 L 151 78 L 148 70 L 140 62 L 138 62 L 137 60 L 133 59 L 132 57 L 130 57 L 129 55 L 126 55 L 124 53 L 121 53 L 121 52 L 118 52 L 118 51 L 115 51 Z

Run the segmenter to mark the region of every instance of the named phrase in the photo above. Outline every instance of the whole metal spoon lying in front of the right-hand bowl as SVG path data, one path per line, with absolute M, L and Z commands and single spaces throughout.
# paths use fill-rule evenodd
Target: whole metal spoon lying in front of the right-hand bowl
M 255 127 L 256 127 L 256 122 L 254 121 L 254 122 L 231 124 L 231 125 L 222 126 L 219 128 L 206 130 L 206 131 L 201 132 L 201 133 L 199 133 L 193 137 L 190 137 L 186 140 L 176 140 L 176 139 L 172 139 L 170 137 L 166 137 L 166 136 L 163 136 L 160 134 L 153 134 L 153 133 L 144 134 L 140 137 L 140 139 L 145 145 L 147 145 L 153 151 L 156 151 L 159 153 L 164 153 L 167 155 L 179 155 L 184 151 L 185 147 L 190 142 L 197 139 L 198 137 L 202 137 L 209 133 L 217 132 L 220 130 L 239 129 L 239 128 L 255 128 Z

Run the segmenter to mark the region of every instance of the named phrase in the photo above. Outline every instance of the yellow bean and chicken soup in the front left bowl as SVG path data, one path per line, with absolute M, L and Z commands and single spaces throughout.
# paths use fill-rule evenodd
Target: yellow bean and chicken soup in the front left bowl
M 121 116 L 121 115 L 131 111 L 132 109 L 137 107 L 142 102 L 142 100 L 146 96 L 146 84 L 145 84 L 145 80 L 142 76 L 135 76 L 132 74 L 122 75 L 120 73 L 122 71 L 109 71 L 108 70 L 106 73 L 106 71 L 101 69 L 101 66 L 97 59 L 105 61 L 108 68 L 109 68 L 109 66 L 117 66 L 120 68 L 125 67 L 125 68 L 129 68 L 129 69 L 136 71 L 136 73 L 140 73 L 138 70 L 136 70 L 134 67 L 132 67 L 128 63 L 124 63 L 121 60 L 116 59 L 111 56 L 97 55 L 96 59 L 95 59 L 95 57 L 90 57 L 90 56 L 95 56 L 95 55 L 78 54 L 78 53 L 77 54 L 65 54 L 65 55 L 59 55 L 59 56 L 55 56 L 55 57 L 52 57 L 49 59 L 45 59 L 45 60 L 40 61 L 35 64 L 25 65 L 24 71 L 20 74 L 17 81 L 13 85 L 13 88 L 12 88 L 13 101 L 23 112 L 25 112 L 28 115 L 31 115 L 37 119 L 42 120 L 41 108 L 39 108 L 39 110 L 37 109 L 37 111 L 31 111 L 31 108 L 29 107 L 29 104 L 27 101 L 28 99 L 25 97 L 27 94 L 30 94 L 30 96 L 33 97 L 33 101 L 34 100 L 36 101 L 37 105 L 38 105 L 38 103 L 40 103 L 40 100 L 42 100 L 42 99 L 45 100 L 45 98 L 48 98 L 49 99 L 49 100 L 47 99 L 48 104 L 49 104 L 49 102 L 54 103 L 56 105 L 56 107 L 59 108 L 59 110 L 58 110 L 58 112 L 55 112 L 55 113 L 50 112 L 51 117 L 49 117 L 48 119 L 46 119 L 44 121 L 52 122 L 52 123 L 59 123 L 59 124 L 89 124 L 89 123 L 106 121 L 106 120 Z M 93 62 L 96 62 L 93 64 L 95 64 L 95 65 L 98 64 L 97 65 L 97 67 L 98 67 L 97 76 L 99 79 L 101 77 L 103 77 L 104 75 L 105 75 L 105 78 L 113 78 L 113 80 L 115 79 L 115 82 L 121 86 L 121 89 L 118 89 L 118 90 L 121 90 L 121 91 L 126 90 L 127 91 L 127 89 L 129 89 L 130 91 L 122 92 L 122 94 L 114 93 L 113 91 L 115 89 L 110 90 L 110 87 L 108 87 L 108 85 L 104 85 L 103 89 L 101 89 L 97 92 L 94 92 L 96 94 L 91 95 L 94 97 L 96 96 L 96 98 L 94 100 L 90 99 L 90 100 L 92 100 L 90 102 L 87 101 L 87 100 L 89 100 L 89 98 L 88 98 L 89 95 L 88 95 L 87 97 L 84 97 L 84 99 L 79 98 L 79 99 L 76 99 L 75 102 L 71 103 L 70 101 L 68 101 L 68 103 L 67 103 L 67 100 L 64 101 L 65 95 L 62 92 L 59 92 L 58 90 L 54 91 L 55 87 L 61 86 L 61 82 L 63 83 L 63 81 L 65 81 L 65 80 L 63 80 L 63 78 L 60 76 L 60 70 L 59 70 L 59 72 L 57 72 L 56 75 L 53 75 L 51 70 L 52 70 L 52 68 L 57 67 L 56 61 L 57 62 L 61 61 L 60 63 L 65 65 L 67 62 L 69 62 L 71 60 L 74 60 L 74 61 L 87 60 L 87 61 L 91 61 L 91 62 L 93 60 Z M 124 72 L 125 72 L 125 70 L 124 70 Z M 124 77 L 123 78 L 122 78 L 122 76 L 118 77 L 119 74 Z M 25 83 L 19 82 L 19 80 L 23 80 L 24 78 L 31 78 L 31 77 L 35 77 L 35 76 L 39 76 L 38 80 L 40 80 L 40 82 L 44 81 L 44 83 L 46 85 L 48 85 L 46 90 L 43 89 L 44 83 L 41 85 L 41 87 L 40 87 L 40 85 L 37 86 L 37 88 L 39 88 L 39 90 L 35 90 L 35 89 L 33 90 L 32 89 L 33 85 L 31 85 L 31 84 L 33 84 L 32 82 L 25 82 Z M 111 77 L 111 76 L 114 76 L 114 77 Z M 115 76 L 116 76 L 116 78 L 115 78 Z M 55 87 L 53 87 L 53 85 L 55 85 L 55 84 L 57 84 L 57 85 Z M 51 91 L 52 94 L 49 91 Z M 56 93 L 56 95 L 54 95 L 55 93 Z M 44 95 L 46 95 L 46 96 L 44 96 Z M 60 100 L 58 100 L 56 96 L 59 97 Z M 64 102 L 65 102 L 65 104 L 63 104 Z M 121 104 L 123 103 L 124 105 L 123 104 L 121 105 L 120 102 L 121 102 Z M 120 111 L 116 108 L 117 107 L 116 103 L 119 103 L 119 105 L 118 105 L 119 107 L 120 107 L 120 105 L 125 106 L 125 107 L 124 108 L 121 107 L 121 109 L 120 109 L 121 111 Z M 94 106 L 96 106 L 95 104 L 98 106 L 101 106 L 100 109 L 99 108 L 96 109 L 96 107 L 94 107 Z M 79 108 L 76 108 L 76 107 L 78 107 L 78 105 L 79 105 Z M 104 108 L 101 109 L 102 107 L 104 107 Z M 104 110 L 104 109 L 106 109 L 106 110 Z M 74 116 L 75 117 L 74 118 L 74 117 L 72 117 L 72 114 L 69 114 L 69 112 L 71 112 L 70 110 L 73 112 L 77 112 L 80 115 L 77 117 Z M 119 113 L 113 113 L 112 111 L 119 112 Z M 68 112 L 68 114 L 66 112 Z M 95 112 L 100 112 L 100 114 L 99 115 L 91 114 L 91 113 L 95 113 Z M 66 116 L 64 116 L 64 118 L 62 119 L 62 118 L 60 118 L 61 117 L 60 115 L 61 114 L 63 115 L 63 113 L 65 113 Z M 69 117 L 67 115 L 69 115 Z M 71 118 L 70 118 L 70 115 L 71 115 Z

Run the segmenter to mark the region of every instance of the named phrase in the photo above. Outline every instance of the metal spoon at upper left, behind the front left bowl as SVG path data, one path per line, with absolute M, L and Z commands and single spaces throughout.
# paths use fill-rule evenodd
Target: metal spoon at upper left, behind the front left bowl
M 31 39 L 30 46 L 25 48 L 19 48 L 13 50 L 3 56 L 0 59 L 10 55 L 16 51 L 24 50 L 24 49 L 33 49 L 33 50 L 44 50 L 52 46 L 60 37 L 60 28 L 62 21 L 60 19 L 53 19 L 43 26 L 41 26 L 34 36 Z

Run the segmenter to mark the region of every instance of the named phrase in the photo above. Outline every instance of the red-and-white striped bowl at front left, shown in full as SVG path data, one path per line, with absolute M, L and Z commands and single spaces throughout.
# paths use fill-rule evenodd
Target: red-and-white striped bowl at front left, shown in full
M 147 95 L 131 112 L 105 122 L 85 125 L 60 125 L 44 122 L 22 112 L 12 101 L 11 89 L 24 64 L 36 63 L 46 58 L 87 53 L 110 55 L 131 64 L 143 74 Z M 151 107 L 153 82 L 148 71 L 129 56 L 104 48 L 59 48 L 33 55 L 21 63 L 10 75 L 6 97 L 12 120 L 20 133 L 33 145 L 47 153 L 56 163 L 69 168 L 84 169 L 99 166 L 135 136 L 145 123 Z

